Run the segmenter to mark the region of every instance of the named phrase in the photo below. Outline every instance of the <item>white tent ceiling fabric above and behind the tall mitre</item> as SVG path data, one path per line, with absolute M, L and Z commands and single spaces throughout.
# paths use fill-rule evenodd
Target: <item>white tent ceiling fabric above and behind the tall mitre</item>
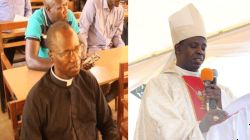
M 132 0 L 129 3 L 129 62 L 172 46 L 168 18 L 193 3 L 206 31 L 219 33 L 232 25 L 249 22 L 249 0 Z

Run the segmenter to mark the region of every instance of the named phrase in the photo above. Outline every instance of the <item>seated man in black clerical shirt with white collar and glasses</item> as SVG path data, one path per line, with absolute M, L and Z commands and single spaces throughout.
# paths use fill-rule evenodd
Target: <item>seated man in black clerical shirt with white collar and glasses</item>
M 80 70 L 80 43 L 65 21 L 48 30 L 53 66 L 26 99 L 21 140 L 118 140 L 119 132 L 95 77 Z

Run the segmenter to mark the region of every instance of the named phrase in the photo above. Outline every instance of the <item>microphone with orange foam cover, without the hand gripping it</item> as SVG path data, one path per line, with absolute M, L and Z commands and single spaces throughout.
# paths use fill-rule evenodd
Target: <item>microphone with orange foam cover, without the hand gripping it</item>
M 217 77 L 217 73 L 215 73 L 212 69 L 204 68 L 201 71 L 201 80 L 203 81 L 205 88 L 210 84 L 213 83 L 216 84 L 215 77 Z M 207 111 L 217 108 L 217 103 L 215 99 L 209 99 L 206 104 L 207 104 Z

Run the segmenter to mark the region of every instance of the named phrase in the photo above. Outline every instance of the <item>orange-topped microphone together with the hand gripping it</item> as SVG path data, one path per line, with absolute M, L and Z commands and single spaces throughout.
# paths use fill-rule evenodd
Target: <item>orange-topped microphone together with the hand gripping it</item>
M 204 95 L 207 110 L 221 108 L 221 90 L 216 85 L 215 78 L 217 77 L 214 76 L 215 74 L 212 69 L 204 68 L 201 71 L 201 80 L 204 82 Z

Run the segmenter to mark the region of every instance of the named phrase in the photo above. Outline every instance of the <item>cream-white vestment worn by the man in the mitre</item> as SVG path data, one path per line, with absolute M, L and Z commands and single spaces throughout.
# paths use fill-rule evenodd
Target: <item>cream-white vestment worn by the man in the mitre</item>
M 141 101 L 134 140 L 203 140 L 192 99 L 182 75 L 199 76 L 175 65 L 165 69 L 146 85 Z M 232 94 L 221 88 L 222 106 Z

